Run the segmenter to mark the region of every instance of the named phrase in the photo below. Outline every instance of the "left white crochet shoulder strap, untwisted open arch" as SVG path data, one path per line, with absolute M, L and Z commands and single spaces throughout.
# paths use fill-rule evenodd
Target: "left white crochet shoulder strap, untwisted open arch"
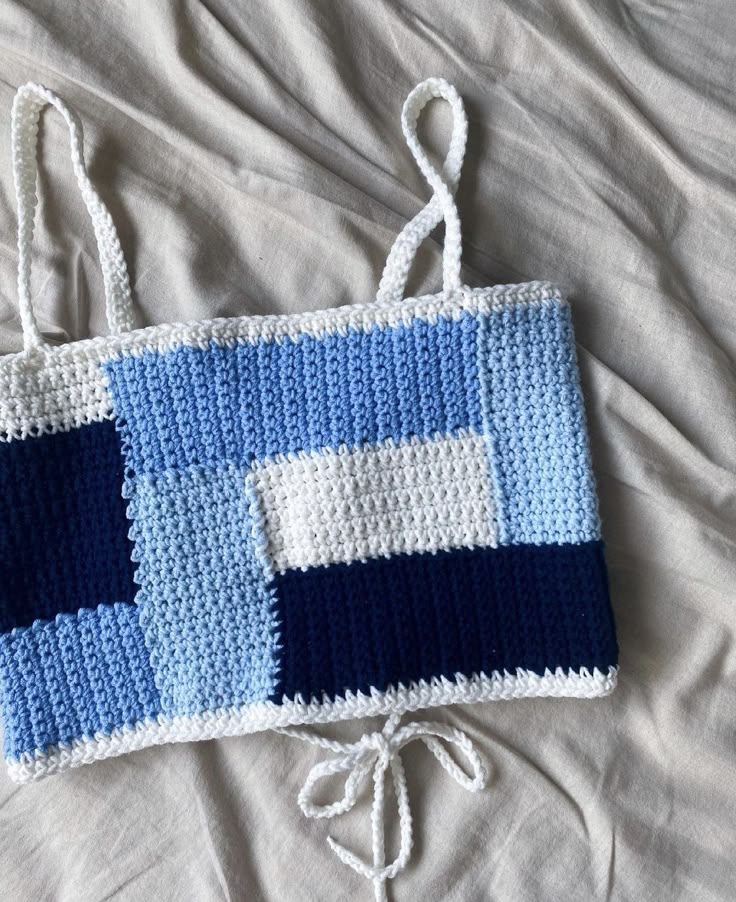
M 112 217 L 87 175 L 82 123 L 53 91 L 29 82 L 18 89 L 11 116 L 13 179 L 18 199 L 18 299 L 26 351 L 44 346 L 31 303 L 31 244 L 38 202 L 36 142 L 41 110 L 46 104 L 56 107 L 69 127 L 74 174 L 97 239 L 110 332 L 117 335 L 133 327 L 128 270 Z

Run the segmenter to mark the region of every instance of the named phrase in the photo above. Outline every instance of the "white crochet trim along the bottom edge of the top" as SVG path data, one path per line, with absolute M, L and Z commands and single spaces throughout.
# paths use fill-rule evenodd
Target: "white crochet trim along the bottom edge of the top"
M 50 746 L 44 752 L 26 752 L 6 760 L 8 773 L 16 783 L 29 783 L 71 767 L 80 767 L 104 758 L 113 758 L 137 749 L 167 742 L 192 742 L 223 736 L 242 736 L 260 730 L 295 724 L 325 724 L 379 714 L 401 714 L 438 705 L 470 704 L 515 698 L 598 698 L 616 686 L 618 668 L 607 673 L 586 668 L 569 672 L 558 668 L 544 676 L 527 670 L 516 674 L 494 672 L 470 678 L 458 675 L 455 681 L 435 679 L 408 687 L 375 691 L 371 695 L 347 693 L 334 701 L 301 700 L 257 702 L 190 717 L 164 717 L 141 721 L 116 729 L 111 735 L 96 734 L 86 739 Z

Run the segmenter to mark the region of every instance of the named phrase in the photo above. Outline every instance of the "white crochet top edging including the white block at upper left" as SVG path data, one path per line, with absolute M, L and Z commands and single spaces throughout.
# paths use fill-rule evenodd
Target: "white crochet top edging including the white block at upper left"
M 23 439 L 42 432 L 72 429 L 82 423 L 109 419 L 112 403 L 100 365 L 122 354 L 142 355 L 188 346 L 284 341 L 301 335 L 346 334 L 376 326 L 391 327 L 416 319 L 458 318 L 507 304 L 562 303 L 549 282 L 463 288 L 400 301 L 398 304 L 355 304 L 271 316 L 239 316 L 197 323 L 149 326 L 118 336 L 98 336 L 0 358 L 0 441 Z

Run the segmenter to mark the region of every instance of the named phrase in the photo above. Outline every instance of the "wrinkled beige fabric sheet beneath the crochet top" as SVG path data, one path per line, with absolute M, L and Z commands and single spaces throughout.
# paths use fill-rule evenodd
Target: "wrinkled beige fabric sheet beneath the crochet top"
M 460 789 L 406 750 L 416 819 L 395 902 L 698 900 L 736 892 L 736 17 L 707 4 L 0 0 L 0 350 L 21 347 L 10 108 L 27 80 L 81 114 L 138 325 L 375 294 L 425 203 L 404 97 L 466 101 L 467 282 L 572 299 L 621 646 L 594 701 L 440 709 L 492 766 Z M 420 129 L 438 155 L 449 115 Z M 68 136 L 42 126 L 33 290 L 56 341 L 105 331 Z M 412 291 L 441 278 L 441 230 Z M 435 714 L 430 715 L 433 719 Z M 380 722 L 325 728 L 357 738 Z M 14 902 L 368 899 L 366 798 L 307 821 L 322 753 L 261 734 L 137 752 L 15 787 Z M 388 836 L 393 854 L 396 830 Z M 393 844 L 393 845 L 392 845 Z

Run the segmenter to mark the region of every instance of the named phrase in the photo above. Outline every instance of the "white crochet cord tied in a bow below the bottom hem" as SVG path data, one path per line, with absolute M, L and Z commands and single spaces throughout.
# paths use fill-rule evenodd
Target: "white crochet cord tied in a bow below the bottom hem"
M 403 870 L 411 855 L 413 844 L 412 818 L 406 776 L 400 752 L 410 742 L 419 740 L 432 752 L 439 763 L 460 786 L 470 792 L 479 792 L 487 782 L 487 771 L 483 758 L 473 745 L 470 737 L 455 727 L 430 721 L 412 721 L 399 728 L 399 715 L 392 714 L 380 732 L 366 733 L 357 742 L 336 742 L 317 736 L 307 730 L 285 727 L 277 730 L 295 739 L 302 739 L 312 745 L 328 749 L 335 757 L 316 764 L 307 776 L 299 793 L 299 807 L 306 817 L 336 817 L 349 811 L 358 799 L 368 775 L 373 772 L 373 811 L 371 827 L 373 834 L 373 861 L 366 862 L 345 846 L 328 837 L 327 842 L 337 857 L 358 874 L 373 881 L 376 902 L 386 902 L 386 881 Z M 470 775 L 450 757 L 442 741 L 456 746 L 462 751 L 470 765 Z M 399 853 L 386 864 L 384 847 L 384 804 L 386 772 L 391 778 L 396 793 L 399 811 L 401 843 Z M 345 792 L 342 799 L 328 805 L 318 805 L 312 801 L 316 784 L 324 777 L 347 774 Z

